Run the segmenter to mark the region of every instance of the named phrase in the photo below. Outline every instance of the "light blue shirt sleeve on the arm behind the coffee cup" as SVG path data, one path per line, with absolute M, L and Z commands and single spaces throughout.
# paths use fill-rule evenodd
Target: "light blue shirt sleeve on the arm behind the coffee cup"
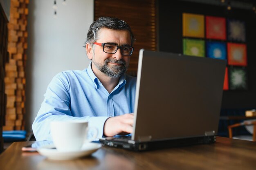
M 65 83 L 59 75 L 49 83 L 45 99 L 32 124 L 32 130 L 37 141 L 52 140 L 50 123 L 54 120 L 84 120 L 89 122 L 89 127 L 97 128 L 98 138 L 103 136 L 103 126 L 108 117 L 83 116 L 75 117 L 70 110 L 69 84 Z M 85 113 L 86 115 L 86 113 Z M 90 136 L 89 136 L 90 137 Z

